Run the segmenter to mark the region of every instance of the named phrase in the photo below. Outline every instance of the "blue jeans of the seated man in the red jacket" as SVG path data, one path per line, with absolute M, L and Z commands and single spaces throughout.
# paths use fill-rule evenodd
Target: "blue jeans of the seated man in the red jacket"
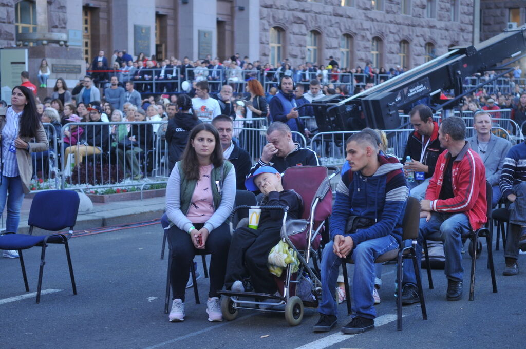
M 448 279 L 462 281 L 464 269 L 462 268 L 462 236 L 470 231 L 469 219 L 466 213 L 439 213 L 431 212 L 429 222 L 420 218 L 420 231 L 418 233 L 417 261 L 422 260 L 422 241 L 432 233 L 440 232 L 440 239 L 444 243 L 446 267 L 444 274 Z M 420 272 L 420 263 L 418 268 Z M 417 284 L 412 263 L 403 263 L 403 283 Z

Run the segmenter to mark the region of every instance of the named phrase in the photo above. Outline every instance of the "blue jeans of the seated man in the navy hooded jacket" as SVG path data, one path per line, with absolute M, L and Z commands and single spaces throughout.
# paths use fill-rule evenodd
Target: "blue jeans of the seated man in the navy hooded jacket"
M 329 241 L 325 245 L 321 257 L 321 302 L 318 311 L 326 315 L 338 314 L 334 297 L 341 259 L 334 253 L 332 243 L 333 241 Z M 397 248 L 398 241 L 392 235 L 387 235 L 363 241 L 352 251 L 350 256 L 355 262 L 355 272 L 352 276 L 353 312 L 368 319 L 376 317 L 375 300 L 372 297 L 376 276 L 375 259 Z

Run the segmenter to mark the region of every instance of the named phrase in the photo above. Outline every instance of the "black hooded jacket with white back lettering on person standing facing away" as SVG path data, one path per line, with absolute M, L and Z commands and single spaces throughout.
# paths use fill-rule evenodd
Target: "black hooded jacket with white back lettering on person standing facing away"
M 170 172 L 183 155 L 191 129 L 197 124 L 201 124 L 201 122 L 201 120 L 194 119 L 193 114 L 186 112 L 178 112 L 168 121 L 165 138 L 168 142 L 168 166 L 170 167 Z

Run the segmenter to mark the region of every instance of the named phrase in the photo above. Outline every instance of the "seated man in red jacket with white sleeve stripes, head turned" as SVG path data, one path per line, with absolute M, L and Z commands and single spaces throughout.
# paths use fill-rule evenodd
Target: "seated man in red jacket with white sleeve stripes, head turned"
M 449 117 L 441 122 L 438 139 L 446 151 L 438 157 L 426 199 L 420 202 L 417 260 L 421 259 L 422 241 L 440 232 L 446 255 L 444 273 L 448 278 L 448 301 L 462 298 L 462 236 L 470 229 L 479 229 L 487 220 L 484 163 L 464 138 L 464 120 Z M 403 276 L 402 303 L 418 302 L 416 278 L 410 263 L 404 264 Z

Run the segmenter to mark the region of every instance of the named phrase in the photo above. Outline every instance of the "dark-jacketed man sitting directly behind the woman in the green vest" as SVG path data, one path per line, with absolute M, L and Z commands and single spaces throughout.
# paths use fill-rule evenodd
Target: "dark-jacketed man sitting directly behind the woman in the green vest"
M 252 161 L 248 151 L 240 148 L 235 142 L 232 142 L 232 131 L 234 121 L 228 115 L 218 115 L 212 120 L 212 125 L 219 132 L 219 139 L 223 149 L 225 159 L 228 159 L 234 165 L 236 170 L 236 187 L 239 190 L 245 190 L 245 178 Z

